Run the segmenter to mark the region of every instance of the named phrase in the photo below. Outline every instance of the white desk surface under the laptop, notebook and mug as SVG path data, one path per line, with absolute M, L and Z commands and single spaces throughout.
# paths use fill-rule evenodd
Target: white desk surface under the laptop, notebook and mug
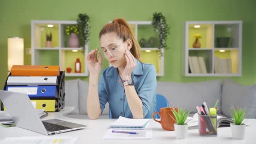
M 199 136 L 198 130 L 193 129 L 188 131 L 188 137 L 184 140 L 178 140 L 175 137 L 175 131 L 166 131 L 161 128 L 159 123 L 150 120 L 149 126 L 153 129 L 153 139 L 150 140 L 103 140 L 102 137 L 104 133 L 109 128 L 109 124 L 114 122 L 115 119 L 109 119 L 108 116 L 101 116 L 99 119 L 90 120 L 87 116 L 79 116 L 80 119 L 66 117 L 65 115 L 72 111 L 73 107 L 65 107 L 65 109 L 60 112 L 49 112 L 49 116 L 44 119 L 58 118 L 69 122 L 80 123 L 88 125 L 86 129 L 69 131 L 67 133 L 52 135 L 53 137 L 62 136 L 78 136 L 77 143 L 121 143 L 121 144 L 135 144 L 135 143 L 207 143 L 207 144 L 217 144 L 217 143 L 256 143 L 256 134 L 253 131 L 256 129 L 256 119 L 248 119 L 246 122 L 249 127 L 246 127 L 245 140 L 232 140 L 231 129 L 228 128 L 218 128 L 217 137 L 204 137 Z M 19 136 L 42 136 L 39 133 L 35 133 L 30 130 L 21 129 L 18 127 L 4 128 L 0 127 L 0 140 L 5 139 L 5 137 L 19 137 Z

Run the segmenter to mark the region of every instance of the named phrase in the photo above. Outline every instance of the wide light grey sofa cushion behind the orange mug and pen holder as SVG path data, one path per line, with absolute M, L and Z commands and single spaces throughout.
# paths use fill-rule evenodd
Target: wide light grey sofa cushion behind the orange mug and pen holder
M 193 83 L 158 82 L 156 93 L 164 95 L 170 107 L 183 107 L 193 113 L 197 112 L 196 106 L 202 105 L 203 101 L 206 101 L 208 108 L 213 107 L 216 100 L 220 100 L 221 90 L 221 80 Z M 218 107 L 218 113 L 221 113 L 221 106 Z

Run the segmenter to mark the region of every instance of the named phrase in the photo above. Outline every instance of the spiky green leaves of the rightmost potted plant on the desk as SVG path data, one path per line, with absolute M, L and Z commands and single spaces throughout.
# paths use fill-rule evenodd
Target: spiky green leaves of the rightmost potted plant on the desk
M 248 113 L 246 112 L 246 107 L 239 107 L 237 106 L 236 109 L 234 106 L 230 107 L 231 116 L 233 118 L 233 122 L 236 125 L 243 125 L 243 120 L 248 116 Z

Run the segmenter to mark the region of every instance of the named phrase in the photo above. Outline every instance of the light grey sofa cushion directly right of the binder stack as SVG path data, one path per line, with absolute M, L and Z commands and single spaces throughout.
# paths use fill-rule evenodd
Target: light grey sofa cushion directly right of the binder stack
M 78 103 L 78 79 L 77 80 L 66 80 L 65 81 L 65 106 L 74 106 L 74 110 L 71 114 L 79 113 Z

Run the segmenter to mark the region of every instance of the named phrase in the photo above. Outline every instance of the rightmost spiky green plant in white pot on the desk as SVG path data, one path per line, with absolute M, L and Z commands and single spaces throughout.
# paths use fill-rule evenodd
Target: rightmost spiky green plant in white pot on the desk
M 243 120 L 247 117 L 246 107 L 237 106 L 236 109 L 234 106 L 230 107 L 231 116 L 234 123 L 230 123 L 231 133 L 233 139 L 243 140 L 245 139 L 245 123 Z

